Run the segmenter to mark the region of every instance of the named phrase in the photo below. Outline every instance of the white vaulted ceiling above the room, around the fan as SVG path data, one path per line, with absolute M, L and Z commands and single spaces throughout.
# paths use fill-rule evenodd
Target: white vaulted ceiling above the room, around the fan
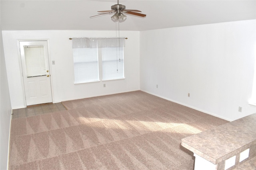
M 116 30 L 116 23 L 99 10 L 111 10 L 116 0 L 1 0 L 2 30 Z M 127 15 L 120 30 L 143 31 L 227 21 L 256 19 L 256 0 L 120 0 Z

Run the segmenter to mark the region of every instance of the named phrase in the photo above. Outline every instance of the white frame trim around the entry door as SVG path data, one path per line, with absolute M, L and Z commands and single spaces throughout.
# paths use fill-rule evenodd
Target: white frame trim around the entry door
M 20 42 L 22 41 L 47 41 L 47 48 L 48 48 L 48 62 L 49 62 L 49 70 L 50 70 L 50 81 L 51 81 L 51 92 L 52 92 L 52 103 L 55 103 L 54 101 L 54 93 L 53 93 L 53 80 L 52 80 L 52 76 L 53 76 L 53 72 L 52 72 L 52 64 L 50 61 L 51 60 L 51 56 L 50 56 L 50 43 L 49 43 L 49 39 L 18 39 L 17 40 L 17 47 L 18 47 L 18 59 L 19 59 L 19 66 L 20 66 L 20 81 L 21 81 L 21 86 L 22 86 L 22 94 L 23 94 L 23 103 L 24 103 L 24 107 L 27 107 L 27 103 L 26 103 L 26 94 L 25 94 L 25 86 L 24 86 L 24 79 L 23 79 L 23 75 L 22 75 L 22 61 L 21 61 L 21 53 L 20 53 Z

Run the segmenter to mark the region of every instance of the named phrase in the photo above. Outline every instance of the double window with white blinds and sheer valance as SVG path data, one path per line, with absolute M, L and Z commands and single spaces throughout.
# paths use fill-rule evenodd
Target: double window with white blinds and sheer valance
M 124 78 L 124 38 L 73 38 L 72 46 L 75 84 Z

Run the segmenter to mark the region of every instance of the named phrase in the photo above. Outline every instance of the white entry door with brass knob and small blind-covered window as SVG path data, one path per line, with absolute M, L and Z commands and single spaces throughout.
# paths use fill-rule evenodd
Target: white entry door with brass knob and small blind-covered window
M 20 41 L 27 106 L 52 102 L 47 41 Z

